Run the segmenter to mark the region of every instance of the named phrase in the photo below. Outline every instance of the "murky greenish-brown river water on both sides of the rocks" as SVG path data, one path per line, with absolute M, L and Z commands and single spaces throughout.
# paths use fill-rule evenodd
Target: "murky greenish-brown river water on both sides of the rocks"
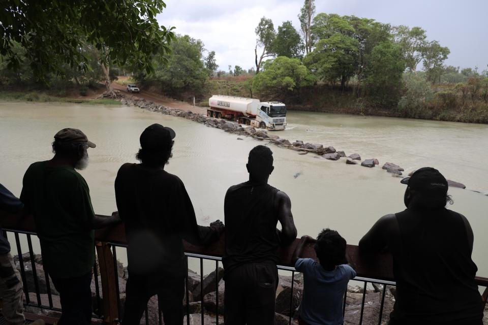
M 488 191 L 488 125 L 309 112 L 289 112 L 287 119 L 289 128 L 276 135 L 380 161 L 380 167 L 370 169 L 269 145 L 275 157 L 269 182 L 290 196 L 299 236 L 316 236 L 329 227 L 357 244 L 379 217 L 405 208 L 405 185 L 382 170 L 382 164 L 398 164 L 407 173 L 432 166 L 467 185 L 467 190 L 449 190 L 454 199 L 450 208 L 471 222 L 473 259 L 478 275 L 488 277 L 488 197 L 472 191 Z M 199 223 L 223 220 L 225 192 L 247 180 L 249 150 L 260 142 L 246 137 L 240 141 L 220 129 L 134 107 L 0 103 L 0 182 L 18 196 L 29 164 L 51 158 L 54 134 L 64 127 L 80 128 L 97 144 L 88 151 L 90 165 L 81 174 L 96 213 L 110 214 L 116 210 L 117 170 L 136 162 L 139 136 L 156 122 L 176 131 L 166 170 L 185 183 Z

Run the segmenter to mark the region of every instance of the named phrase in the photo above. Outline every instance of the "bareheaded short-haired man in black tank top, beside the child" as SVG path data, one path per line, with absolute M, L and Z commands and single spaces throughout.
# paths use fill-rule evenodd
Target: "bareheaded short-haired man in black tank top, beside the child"
M 273 324 L 278 248 L 295 240 L 296 228 L 290 198 L 267 184 L 274 169 L 271 150 L 253 148 L 246 167 L 249 181 L 231 186 L 224 201 L 225 322 Z

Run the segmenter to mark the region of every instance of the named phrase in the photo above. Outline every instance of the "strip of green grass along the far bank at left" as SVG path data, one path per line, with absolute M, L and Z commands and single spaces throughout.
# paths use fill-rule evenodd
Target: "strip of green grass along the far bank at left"
M 74 103 L 74 104 L 86 104 L 86 105 L 120 105 L 120 101 L 103 98 L 95 100 L 84 100 L 77 98 L 66 98 L 51 96 L 43 92 L 38 91 L 2 91 L 0 92 L 0 100 L 13 101 L 13 102 L 34 102 L 34 103 Z

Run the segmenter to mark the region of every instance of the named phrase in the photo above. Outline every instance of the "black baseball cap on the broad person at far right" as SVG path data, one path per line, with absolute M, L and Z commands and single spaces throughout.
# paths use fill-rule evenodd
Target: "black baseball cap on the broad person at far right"
M 447 193 L 449 187 L 446 178 L 432 167 L 420 168 L 412 176 L 402 179 L 400 183 L 407 184 L 411 189 L 421 192 L 436 190 Z

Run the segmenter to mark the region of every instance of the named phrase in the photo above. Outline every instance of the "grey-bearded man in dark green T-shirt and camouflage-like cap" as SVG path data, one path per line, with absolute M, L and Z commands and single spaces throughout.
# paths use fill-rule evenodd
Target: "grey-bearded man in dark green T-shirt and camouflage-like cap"
M 87 148 L 95 148 L 76 128 L 54 136 L 54 157 L 29 166 L 20 200 L 34 216 L 42 262 L 59 292 L 62 315 L 58 325 L 85 325 L 92 319 L 94 229 L 119 220 L 95 215 L 88 185 L 76 171 L 88 165 Z

